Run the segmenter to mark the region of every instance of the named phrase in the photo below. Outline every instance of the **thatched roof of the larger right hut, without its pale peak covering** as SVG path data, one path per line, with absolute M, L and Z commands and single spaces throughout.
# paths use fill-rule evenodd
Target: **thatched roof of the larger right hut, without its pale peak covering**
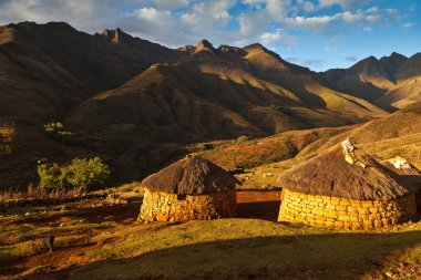
M 278 183 L 291 191 L 356 200 L 389 200 L 411 193 L 374 157 L 359 148 L 353 154 L 366 168 L 347 163 L 337 145 L 285 172 Z

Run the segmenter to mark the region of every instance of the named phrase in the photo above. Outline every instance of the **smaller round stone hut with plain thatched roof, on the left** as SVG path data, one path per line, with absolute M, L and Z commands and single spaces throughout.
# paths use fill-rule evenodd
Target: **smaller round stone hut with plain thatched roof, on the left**
M 236 217 L 237 184 L 240 182 L 209 160 L 186 157 L 142 182 L 145 193 L 138 220 L 186 221 Z

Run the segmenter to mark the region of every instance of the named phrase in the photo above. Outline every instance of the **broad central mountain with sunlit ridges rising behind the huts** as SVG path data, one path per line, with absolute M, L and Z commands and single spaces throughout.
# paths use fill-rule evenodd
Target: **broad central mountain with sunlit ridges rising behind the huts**
M 212 141 L 384 115 L 368 102 L 294 71 L 261 45 L 214 49 L 201 41 L 179 63 L 155 64 L 122 86 L 88 98 L 66 123 L 84 132 L 101 131 L 105 138 L 125 125 L 143 135 L 150 132 L 143 138 Z M 110 117 L 109 112 L 115 113 Z

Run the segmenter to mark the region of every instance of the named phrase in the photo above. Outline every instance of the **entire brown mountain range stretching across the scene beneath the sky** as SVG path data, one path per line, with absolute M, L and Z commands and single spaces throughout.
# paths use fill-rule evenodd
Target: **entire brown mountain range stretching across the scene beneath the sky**
M 0 27 L 0 186 L 37 182 L 40 158 L 101 155 L 115 180 L 138 179 L 194 143 L 382 118 L 421 101 L 420 60 L 316 73 L 260 44 L 168 49 L 120 29 Z M 49 122 L 78 144 L 49 137 Z

